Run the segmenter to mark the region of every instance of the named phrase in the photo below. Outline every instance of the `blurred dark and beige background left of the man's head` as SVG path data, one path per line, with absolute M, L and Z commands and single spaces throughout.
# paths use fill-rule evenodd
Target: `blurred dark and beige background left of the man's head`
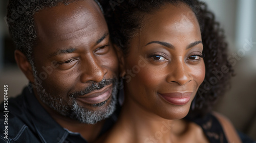
M 4 85 L 7 84 L 10 98 L 22 92 L 28 80 L 14 62 L 15 46 L 5 21 L 7 2 L 7 0 L 0 1 L 0 89 L 3 91 Z M 0 96 L 0 102 L 3 100 L 4 96 Z

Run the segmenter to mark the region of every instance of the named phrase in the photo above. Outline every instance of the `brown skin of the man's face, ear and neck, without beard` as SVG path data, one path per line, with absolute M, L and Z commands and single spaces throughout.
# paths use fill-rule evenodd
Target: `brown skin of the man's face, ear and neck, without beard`
M 110 43 L 108 27 L 94 1 L 79 1 L 68 6 L 60 4 L 40 10 L 34 15 L 34 20 L 37 44 L 33 49 L 33 56 L 38 74 L 45 71 L 43 66 L 52 66 L 53 61 L 57 62 L 52 72 L 42 80 L 42 86 L 51 95 L 61 95 L 68 101 L 68 94 L 88 87 L 92 81 L 97 83 L 103 78 L 118 75 L 118 59 Z M 105 38 L 100 40 L 104 35 Z M 71 53 L 59 52 L 70 48 L 75 50 Z M 24 54 L 17 50 L 15 58 L 29 81 L 34 83 L 31 65 Z M 42 103 L 35 89 L 34 93 L 40 104 L 63 128 L 79 132 L 89 142 L 97 137 L 103 122 L 88 125 L 71 120 Z M 92 107 L 83 100 L 76 101 L 93 111 L 104 109 L 109 104 L 108 101 L 101 107 Z

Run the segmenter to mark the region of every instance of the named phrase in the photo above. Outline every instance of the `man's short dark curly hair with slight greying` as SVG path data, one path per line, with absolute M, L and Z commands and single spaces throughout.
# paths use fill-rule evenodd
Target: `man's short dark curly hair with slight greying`
M 33 46 L 36 44 L 36 29 L 34 14 L 45 8 L 55 7 L 59 3 L 69 5 L 70 3 L 82 0 L 9 0 L 7 7 L 7 22 L 9 33 L 16 45 L 28 58 L 33 66 Z M 87 1 L 87 0 L 84 0 Z M 103 12 L 101 5 L 94 0 Z

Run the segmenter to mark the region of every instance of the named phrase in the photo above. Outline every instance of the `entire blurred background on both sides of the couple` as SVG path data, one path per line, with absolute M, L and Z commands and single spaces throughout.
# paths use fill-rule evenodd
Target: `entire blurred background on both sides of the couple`
M 219 100 L 215 110 L 227 116 L 239 131 L 256 140 L 256 1 L 202 1 L 214 11 L 225 30 L 230 55 L 238 55 L 237 59 L 232 58 L 237 74 L 232 79 L 232 88 Z M 15 97 L 28 81 L 13 61 L 14 46 L 4 20 L 6 5 L 6 1 L 0 1 L 0 87 L 3 93 L 4 85 L 8 84 L 8 96 Z

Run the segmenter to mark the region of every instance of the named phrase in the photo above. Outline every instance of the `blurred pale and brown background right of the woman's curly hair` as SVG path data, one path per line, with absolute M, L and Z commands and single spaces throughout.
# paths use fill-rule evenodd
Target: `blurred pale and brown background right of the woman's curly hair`
M 256 1 L 204 0 L 225 30 L 236 77 L 215 110 L 256 140 Z

